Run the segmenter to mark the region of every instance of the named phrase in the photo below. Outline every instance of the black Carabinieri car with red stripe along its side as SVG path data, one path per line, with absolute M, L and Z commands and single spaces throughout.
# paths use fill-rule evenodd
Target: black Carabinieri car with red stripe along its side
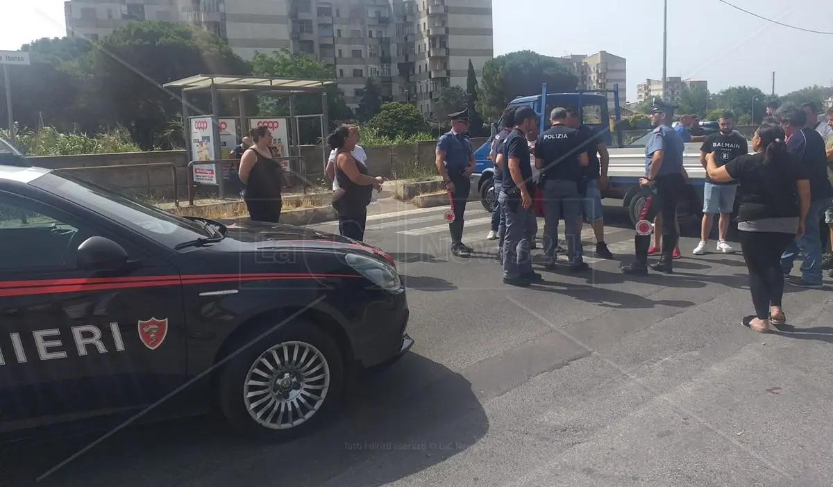
M 178 217 L 25 167 L 2 141 L 0 159 L 4 439 L 212 406 L 248 434 L 291 439 L 337 407 L 354 372 L 413 344 L 379 249 Z

